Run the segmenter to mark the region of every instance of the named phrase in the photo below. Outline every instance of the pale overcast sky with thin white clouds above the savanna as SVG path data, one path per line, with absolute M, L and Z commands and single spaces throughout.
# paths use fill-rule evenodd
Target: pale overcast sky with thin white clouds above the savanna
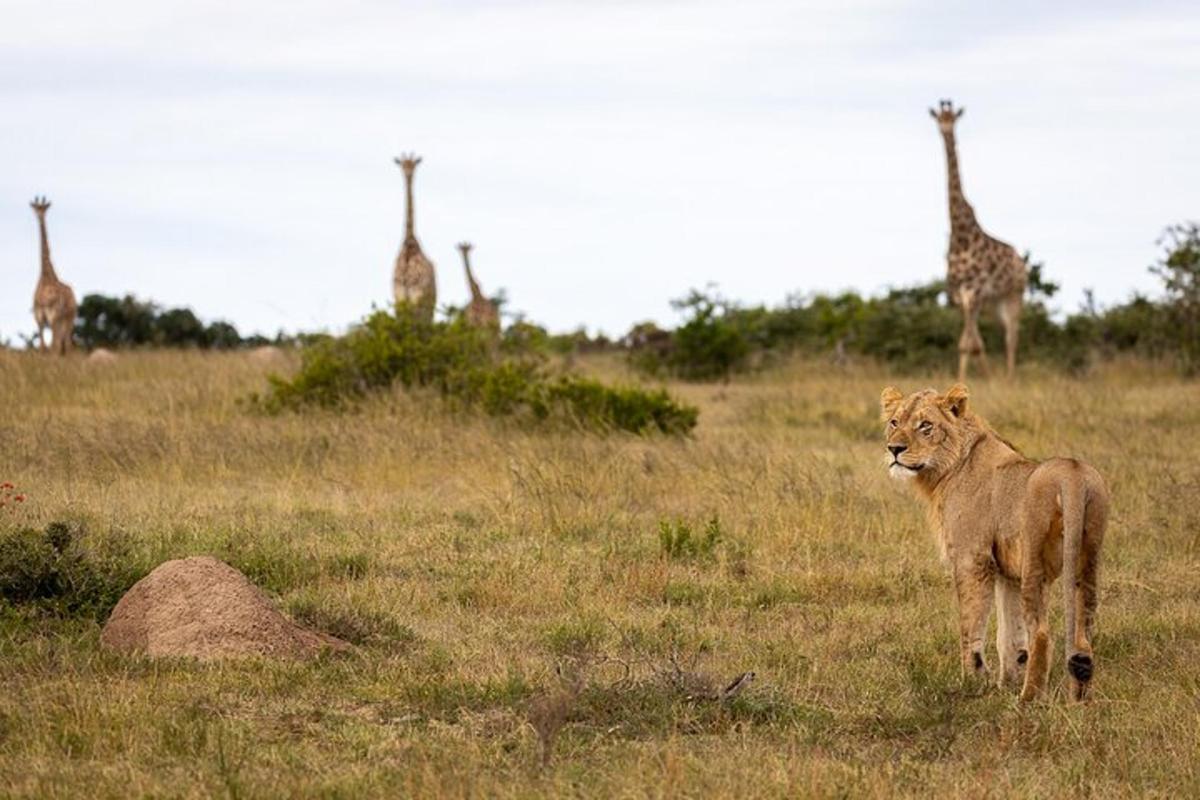
M 35 194 L 79 297 L 341 330 L 390 302 L 406 151 L 439 301 L 469 240 L 552 330 L 936 279 L 941 97 L 1054 305 L 1156 291 L 1200 216 L 1200 4 L 5 0 L 0 338 L 34 327 Z

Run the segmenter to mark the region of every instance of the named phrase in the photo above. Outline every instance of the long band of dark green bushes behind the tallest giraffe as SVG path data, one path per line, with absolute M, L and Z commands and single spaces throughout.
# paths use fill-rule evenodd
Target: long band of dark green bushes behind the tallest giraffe
M 1186 373 L 1200 371 L 1200 225 L 1169 228 L 1163 242 L 1163 257 L 1151 267 L 1163 279 L 1163 300 L 1134 295 L 1104 309 L 1088 300 L 1060 319 L 1048 307 L 1057 284 L 1026 253 L 1021 359 L 1079 372 L 1098 357 L 1128 353 L 1174 357 Z M 791 353 L 838 359 L 854 354 L 906 369 L 944 369 L 962 331 L 961 314 L 947 302 L 941 281 L 877 297 L 852 291 L 793 296 L 778 308 L 739 307 L 694 290 L 676 306 L 690 312 L 677 330 L 643 323 L 625 337 L 635 369 L 710 380 Z M 979 329 L 988 351 L 1002 356 L 1004 333 L 995 314 L 985 313 Z

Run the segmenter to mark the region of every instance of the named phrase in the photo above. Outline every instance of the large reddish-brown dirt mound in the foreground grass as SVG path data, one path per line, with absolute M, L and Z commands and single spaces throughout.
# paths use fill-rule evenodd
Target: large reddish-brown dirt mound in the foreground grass
M 118 652 L 223 658 L 307 658 L 349 650 L 300 627 L 246 576 L 208 555 L 160 564 L 116 603 L 100 643 Z

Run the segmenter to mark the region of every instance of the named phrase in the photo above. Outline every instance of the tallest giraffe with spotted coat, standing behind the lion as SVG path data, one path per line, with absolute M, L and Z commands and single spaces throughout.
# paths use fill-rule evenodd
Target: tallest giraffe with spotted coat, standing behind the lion
M 959 157 L 954 144 L 954 124 L 962 116 L 948 100 L 929 109 L 937 120 L 946 144 L 946 166 L 950 194 L 950 245 L 946 253 L 946 291 L 950 302 L 962 311 L 962 336 L 959 337 L 959 380 L 966 378 L 967 362 L 979 356 L 984 374 L 988 356 L 979 336 L 979 312 L 995 306 L 1004 326 L 1004 355 L 1008 375 L 1016 369 L 1016 338 L 1021 321 L 1027 267 L 1016 249 L 990 236 L 979 227 L 974 209 L 962 194 Z

